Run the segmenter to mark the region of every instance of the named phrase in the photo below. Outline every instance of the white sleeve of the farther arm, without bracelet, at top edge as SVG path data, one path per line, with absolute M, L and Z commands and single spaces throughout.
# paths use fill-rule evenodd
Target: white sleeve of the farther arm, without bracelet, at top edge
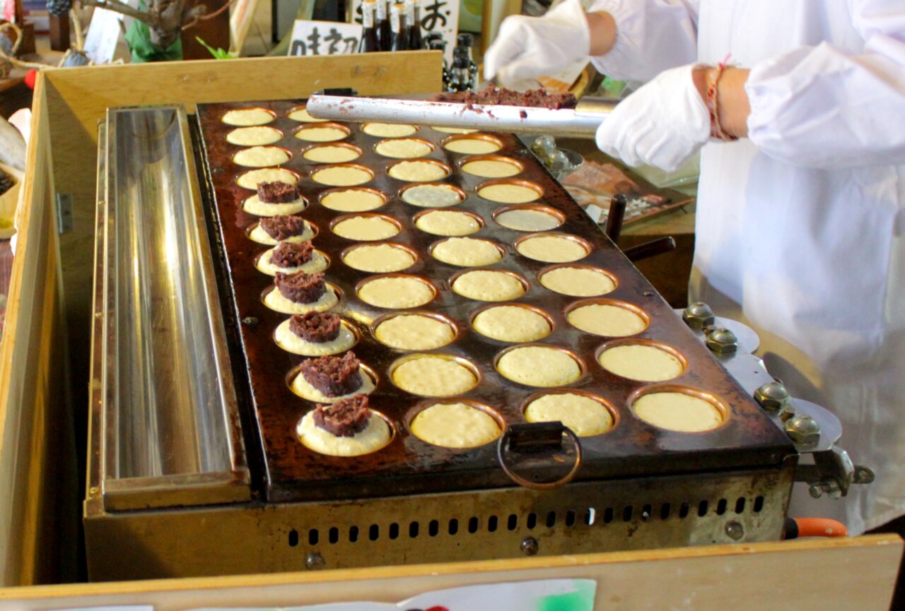
M 651 80 L 697 61 L 700 0 L 596 0 L 588 13 L 612 14 L 616 40 L 595 68 L 617 80 Z

